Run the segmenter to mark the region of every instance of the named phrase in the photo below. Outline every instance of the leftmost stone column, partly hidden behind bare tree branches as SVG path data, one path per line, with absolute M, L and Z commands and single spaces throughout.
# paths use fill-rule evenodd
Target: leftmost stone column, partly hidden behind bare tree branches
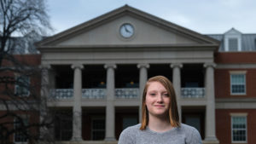
M 49 69 L 50 65 L 42 65 L 41 68 L 41 103 L 40 103 L 40 123 L 51 121 L 49 118 L 49 112 L 47 111 L 47 100 L 49 97 Z M 40 136 L 42 139 L 46 137 L 53 139 L 52 135 L 49 135 L 50 130 L 46 127 L 40 127 Z

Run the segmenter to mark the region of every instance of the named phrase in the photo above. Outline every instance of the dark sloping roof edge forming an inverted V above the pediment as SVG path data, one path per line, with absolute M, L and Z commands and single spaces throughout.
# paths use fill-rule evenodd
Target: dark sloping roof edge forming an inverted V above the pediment
M 170 21 L 160 19 L 152 14 L 148 14 L 139 9 L 135 9 L 128 5 L 125 5 L 119 9 L 114 9 L 113 11 L 110 11 L 107 14 L 102 14 L 101 16 L 96 17 L 93 20 L 86 21 L 80 24 L 79 26 L 74 26 L 73 28 L 70 28 L 67 31 L 60 32 L 52 37 L 48 37 L 43 41 L 38 42 L 37 46 L 38 48 L 54 46 L 55 43 L 58 43 L 62 39 L 65 39 L 73 35 L 77 35 L 81 32 L 89 31 L 90 29 L 95 28 L 96 26 L 102 26 L 103 24 L 106 24 L 111 20 L 116 20 L 117 18 L 122 17 L 124 15 L 131 15 L 133 17 L 136 17 L 137 19 L 147 21 L 148 23 L 151 23 L 154 26 L 160 26 L 162 28 L 165 28 L 167 31 L 177 33 L 179 35 L 182 35 L 183 37 L 189 37 L 190 39 L 194 39 L 195 41 L 201 44 L 210 44 L 217 47 L 219 44 L 218 40 L 212 37 L 207 37 L 198 32 L 193 32 L 182 26 L 177 26 L 176 24 Z

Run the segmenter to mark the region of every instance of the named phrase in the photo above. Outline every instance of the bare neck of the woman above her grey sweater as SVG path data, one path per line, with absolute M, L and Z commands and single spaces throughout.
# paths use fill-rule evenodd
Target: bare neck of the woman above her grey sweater
M 170 124 L 169 118 L 158 118 L 149 115 L 148 128 L 156 132 L 165 132 L 172 130 L 172 125 Z

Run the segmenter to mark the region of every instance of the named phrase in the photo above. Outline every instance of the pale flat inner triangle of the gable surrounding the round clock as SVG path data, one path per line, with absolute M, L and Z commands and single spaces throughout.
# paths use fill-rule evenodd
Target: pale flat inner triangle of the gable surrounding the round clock
M 134 34 L 124 38 L 119 33 L 119 27 L 124 23 L 134 26 Z M 67 37 L 56 45 L 125 45 L 125 44 L 181 44 L 198 43 L 188 37 L 180 36 L 159 26 L 154 26 L 143 20 L 125 15 L 102 26 Z

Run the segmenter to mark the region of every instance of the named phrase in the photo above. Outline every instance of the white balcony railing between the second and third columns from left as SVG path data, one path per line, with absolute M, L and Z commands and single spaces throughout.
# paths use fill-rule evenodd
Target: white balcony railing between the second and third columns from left
M 82 89 L 82 98 L 105 99 L 107 89 Z

